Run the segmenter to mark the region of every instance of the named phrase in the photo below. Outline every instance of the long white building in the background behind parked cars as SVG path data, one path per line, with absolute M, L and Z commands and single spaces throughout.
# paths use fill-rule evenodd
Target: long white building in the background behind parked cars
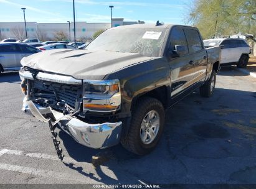
M 138 22 L 125 22 L 123 18 L 112 19 L 112 26 L 138 24 Z M 69 23 L 37 23 L 26 22 L 27 38 L 39 38 L 40 40 L 54 40 L 57 32 L 63 32 L 69 40 Z M 92 39 L 98 30 L 110 28 L 110 23 L 87 23 L 75 22 L 76 35 L 78 40 Z M 73 22 L 70 22 L 70 39 L 74 39 Z M 0 22 L 0 39 L 26 39 L 24 22 Z

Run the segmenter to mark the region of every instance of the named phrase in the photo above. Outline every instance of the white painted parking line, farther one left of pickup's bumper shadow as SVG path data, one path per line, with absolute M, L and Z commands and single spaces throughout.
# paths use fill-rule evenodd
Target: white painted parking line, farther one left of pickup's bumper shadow
M 4 154 L 12 154 L 12 155 L 25 155 L 27 157 L 36 157 L 39 159 L 48 159 L 48 160 L 59 160 L 60 159 L 57 157 L 57 155 L 49 155 L 49 154 L 41 154 L 41 153 L 26 153 L 21 150 L 8 150 L 8 149 L 2 149 L 0 151 L 0 156 Z M 69 163 L 79 163 L 76 160 L 70 158 L 70 157 L 64 157 L 64 162 L 69 162 Z M 85 162 L 82 162 L 83 164 L 88 164 Z

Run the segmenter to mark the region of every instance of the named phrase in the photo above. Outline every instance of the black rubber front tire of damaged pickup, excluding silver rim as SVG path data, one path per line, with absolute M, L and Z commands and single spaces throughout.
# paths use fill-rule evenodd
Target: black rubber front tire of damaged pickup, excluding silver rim
M 121 138 L 121 144 L 125 149 L 133 152 L 134 154 L 145 155 L 149 154 L 149 152 L 151 152 L 158 144 L 163 132 L 165 113 L 163 104 L 158 99 L 145 97 L 138 100 L 136 108 L 131 113 L 129 130 L 126 136 Z M 145 119 L 145 116 L 152 110 L 156 111 L 159 115 L 159 129 L 153 141 L 149 144 L 144 144 L 141 141 L 141 124 L 143 119 Z

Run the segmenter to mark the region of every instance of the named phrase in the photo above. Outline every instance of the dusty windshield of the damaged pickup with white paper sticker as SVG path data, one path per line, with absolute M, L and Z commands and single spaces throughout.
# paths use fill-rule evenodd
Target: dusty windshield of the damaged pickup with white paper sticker
M 145 57 L 159 57 L 166 29 L 118 28 L 109 29 L 93 40 L 85 49 L 139 53 Z

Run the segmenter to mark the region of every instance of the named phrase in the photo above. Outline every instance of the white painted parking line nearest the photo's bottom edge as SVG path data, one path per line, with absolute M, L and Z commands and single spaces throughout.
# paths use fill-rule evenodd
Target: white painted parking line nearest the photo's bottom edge
M 83 182 L 83 183 L 84 182 L 88 183 L 88 180 L 89 180 L 89 178 L 87 178 L 87 177 L 74 177 L 73 174 L 69 174 L 69 173 L 54 172 L 51 170 L 23 167 L 23 166 L 19 166 L 19 165 L 11 165 L 11 164 L 1 164 L 0 163 L 0 169 L 1 170 L 9 170 L 12 172 L 25 173 L 25 174 L 35 175 L 35 176 L 40 176 L 40 177 L 57 178 L 57 179 L 71 180 L 71 181 Z

